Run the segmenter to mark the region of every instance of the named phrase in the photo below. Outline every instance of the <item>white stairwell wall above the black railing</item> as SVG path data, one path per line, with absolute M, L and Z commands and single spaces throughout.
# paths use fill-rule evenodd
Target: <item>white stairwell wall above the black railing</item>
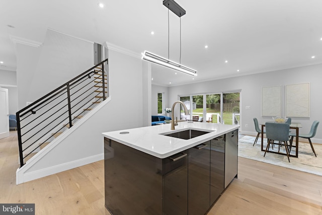
M 40 47 L 16 44 L 19 109 L 91 68 L 93 44 L 52 30 Z

